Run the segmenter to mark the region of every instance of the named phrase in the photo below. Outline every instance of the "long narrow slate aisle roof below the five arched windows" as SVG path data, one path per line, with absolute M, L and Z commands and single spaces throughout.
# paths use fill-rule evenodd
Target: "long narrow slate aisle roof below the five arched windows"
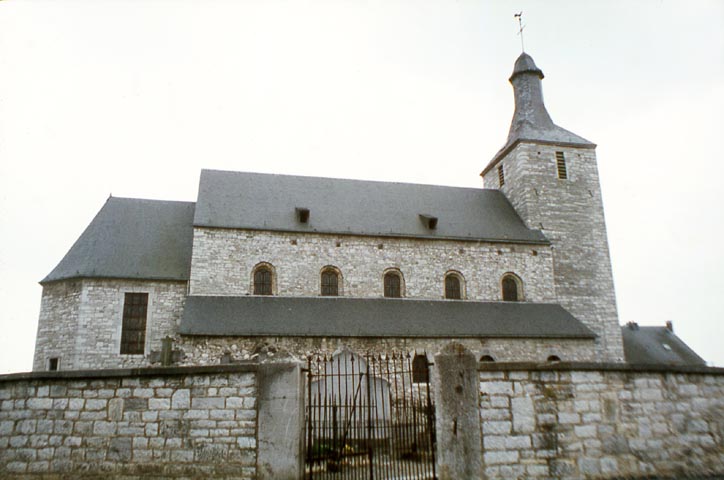
M 189 296 L 183 335 L 593 339 L 557 304 L 349 297 Z

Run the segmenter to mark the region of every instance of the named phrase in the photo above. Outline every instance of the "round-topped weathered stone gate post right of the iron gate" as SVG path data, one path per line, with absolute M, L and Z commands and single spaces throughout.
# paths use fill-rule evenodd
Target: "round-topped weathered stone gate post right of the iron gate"
M 435 355 L 433 380 L 438 478 L 482 478 L 475 356 L 459 343 L 446 345 Z

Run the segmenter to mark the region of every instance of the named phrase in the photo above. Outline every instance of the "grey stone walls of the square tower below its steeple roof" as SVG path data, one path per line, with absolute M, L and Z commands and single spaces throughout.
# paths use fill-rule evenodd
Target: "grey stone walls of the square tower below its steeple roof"
M 556 152 L 565 155 L 567 180 L 558 178 Z M 499 188 L 526 225 L 551 241 L 558 302 L 599 335 L 601 361 L 623 362 L 595 150 L 521 143 L 499 164 L 505 185 L 497 168 L 485 185 Z

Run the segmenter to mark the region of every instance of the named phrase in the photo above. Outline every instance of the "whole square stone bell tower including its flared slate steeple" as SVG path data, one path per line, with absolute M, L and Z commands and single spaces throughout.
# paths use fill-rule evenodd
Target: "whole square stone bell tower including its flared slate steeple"
M 510 82 L 515 113 L 505 146 L 481 173 L 553 251 L 558 301 L 593 330 L 601 361 L 623 362 L 596 145 L 553 123 L 543 103 L 543 72 L 521 54 Z

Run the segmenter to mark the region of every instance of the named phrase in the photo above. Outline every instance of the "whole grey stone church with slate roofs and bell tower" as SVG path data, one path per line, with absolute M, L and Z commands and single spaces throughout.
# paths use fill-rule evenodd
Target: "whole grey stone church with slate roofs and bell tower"
M 626 361 L 596 145 L 553 123 L 542 79 L 523 53 L 484 188 L 204 170 L 195 203 L 109 198 L 41 281 L 34 370 L 453 340 L 487 361 Z M 636 350 L 645 329 L 624 331 Z M 702 363 L 684 347 L 659 361 Z

